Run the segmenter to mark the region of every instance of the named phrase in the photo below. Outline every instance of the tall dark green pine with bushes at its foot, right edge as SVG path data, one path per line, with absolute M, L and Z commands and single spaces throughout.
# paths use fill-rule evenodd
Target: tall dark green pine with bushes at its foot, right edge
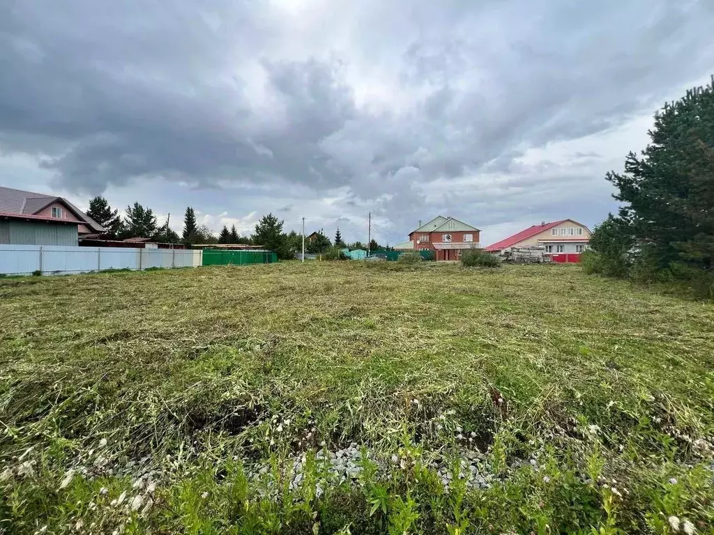
M 655 114 L 642 153 L 606 178 L 623 203 L 595 228 L 585 270 L 681 280 L 714 297 L 714 76 Z

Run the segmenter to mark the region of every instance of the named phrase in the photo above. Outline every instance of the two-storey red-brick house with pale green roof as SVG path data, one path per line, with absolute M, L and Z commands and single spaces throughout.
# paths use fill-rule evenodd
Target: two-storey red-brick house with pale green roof
M 459 260 L 465 249 L 481 247 L 481 230 L 454 218 L 438 215 L 409 233 L 409 241 L 396 245 L 396 250 L 433 251 L 436 260 Z

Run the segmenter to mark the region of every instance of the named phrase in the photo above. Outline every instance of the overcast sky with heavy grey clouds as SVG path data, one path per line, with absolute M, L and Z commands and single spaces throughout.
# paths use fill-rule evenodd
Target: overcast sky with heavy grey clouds
M 380 242 L 599 223 L 711 0 L 4 0 L 0 185 Z

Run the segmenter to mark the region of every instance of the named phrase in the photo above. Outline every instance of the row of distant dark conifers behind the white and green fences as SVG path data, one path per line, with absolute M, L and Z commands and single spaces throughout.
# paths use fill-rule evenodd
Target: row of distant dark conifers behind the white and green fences
M 186 207 L 183 214 L 183 232 L 178 235 L 169 227 L 167 218 L 164 225 L 159 226 L 151 208 L 146 208 L 140 203 L 129 205 L 124 214 L 119 214 L 118 209 L 111 208 L 106 198 L 97 196 L 89 201 L 89 210 L 86 215 L 94 219 L 106 229 L 104 236 L 108 239 L 126 240 L 128 238 L 151 238 L 159 243 L 183 243 L 184 245 L 197 244 L 245 244 L 261 245 L 263 248 L 274 251 L 278 258 L 293 258 L 296 251 L 302 250 L 302 236 L 291 230 L 283 232 L 283 220 L 278 220 L 275 215 L 268 213 L 258 221 L 255 231 L 250 236 L 243 236 L 236 230 L 236 225 L 228 228 L 223 225 L 221 232 L 215 235 L 206 225 L 198 225 L 193 207 Z M 326 253 L 331 248 L 366 249 L 361 242 L 347 244 L 342 240 L 340 230 L 337 229 L 334 243 L 324 234 L 323 230 L 316 233 L 312 240 L 305 241 L 308 253 Z M 371 250 L 382 247 L 372 240 Z

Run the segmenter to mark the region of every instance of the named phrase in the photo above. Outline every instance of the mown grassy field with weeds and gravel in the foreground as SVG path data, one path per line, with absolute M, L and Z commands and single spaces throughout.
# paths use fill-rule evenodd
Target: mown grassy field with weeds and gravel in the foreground
M 577 266 L 0 279 L 0 532 L 712 534 L 713 399 Z

